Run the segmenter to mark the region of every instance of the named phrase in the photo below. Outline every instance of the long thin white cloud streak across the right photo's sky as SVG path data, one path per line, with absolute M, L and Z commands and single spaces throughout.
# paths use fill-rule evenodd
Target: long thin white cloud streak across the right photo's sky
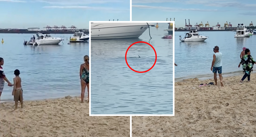
M 144 6 L 144 5 L 132 5 L 132 7 L 157 9 L 157 10 L 163 10 L 163 11 L 218 11 L 218 10 L 208 10 L 208 9 L 198 9 L 198 8 L 171 8 L 171 7 Z

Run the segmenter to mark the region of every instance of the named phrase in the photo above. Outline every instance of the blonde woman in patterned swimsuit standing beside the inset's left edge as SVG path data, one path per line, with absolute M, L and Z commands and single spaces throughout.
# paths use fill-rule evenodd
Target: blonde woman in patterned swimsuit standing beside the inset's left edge
M 88 101 L 89 103 L 89 56 L 85 55 L 83 57 L 85 63 L 80 66 L 80 78 L 81 78 L 81 103 L 83 103 L 83 98 L 85 97 L 85 88 L 87 86 L 88 91 Z

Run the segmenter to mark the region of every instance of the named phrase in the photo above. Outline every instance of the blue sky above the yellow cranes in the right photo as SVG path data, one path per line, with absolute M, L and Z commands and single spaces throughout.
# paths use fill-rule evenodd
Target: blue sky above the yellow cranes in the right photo
M 224 26 L 226 21 L 236 27 L 238 23 L 256 26 L 256 0 L 133 0 L 132 21 L 168 21 L 175 18 L 175 26 L 185 27 L 209 22 Z

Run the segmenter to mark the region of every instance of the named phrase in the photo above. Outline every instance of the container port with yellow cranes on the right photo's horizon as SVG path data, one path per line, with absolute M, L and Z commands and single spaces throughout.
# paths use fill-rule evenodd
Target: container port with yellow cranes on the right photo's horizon
M 174 28 L 174 29 L 175 31 L 189 31 L 191 27 L 192 25 L 190 24 L 190 20 L 189 20 L 189 24 L 187 24 L 187 21 L 185 19 L 185 28 L 181 27 L 181 28 Z M 196 27 L 197 30 L 199 31 L 235 31 L 237 30 L 237 27 L 232 27 L 232 24 L 228 23 L 227 21 L 226 23 L 224 23 L 223 27 L 221 27 L 219 23 L 217 23 L 217 25 L 215 26 L 210 27 L 210 24 L 208 23 L 208 21 L 206 24 L 203 24 L 202 22 L 200 24 L 196 23 L 196 25 L 194 25 L 193 27 Z M 255 28 L 253 26 L 253 22 L 249 24 L 249 28 L 251 29 Z

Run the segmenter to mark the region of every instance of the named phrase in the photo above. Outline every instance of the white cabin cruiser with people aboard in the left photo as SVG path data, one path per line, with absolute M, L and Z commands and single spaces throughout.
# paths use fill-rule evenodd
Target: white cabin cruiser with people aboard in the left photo
M 46 35 L 45 35 L 46 34 Z M 48 33 L 37 33 L 37 38 L 31 37 L 30 41 L 27 43 L 28 45 L 34 45 L 37 43 L 38 45 L 55 45 L 59 44 L 63 39 L 57 37 L 51 37 Z

